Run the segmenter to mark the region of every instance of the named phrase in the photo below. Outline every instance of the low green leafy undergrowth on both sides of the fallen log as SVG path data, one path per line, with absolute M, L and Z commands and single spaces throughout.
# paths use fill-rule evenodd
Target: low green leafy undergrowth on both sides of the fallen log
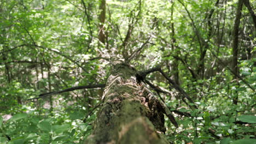
M 241 71 L 251 85 L 255 83 L 255 70 L 253 73 Z M 214 79 L 218 79 L 218 76 Z M 191 110 L 177 98 L 165 99 L 171 110 L 190 115 L 174 113 L 179 123 L 177 129 L 166 118 L 167 139 L 173 143 L 256 143 L 254 92 L 242 82 L 237 86 L 236 83 L 226 82 L 216 84 L 214 80 L 187 81 L 183 87 L 185 91 L 193 93 L 195 88 L 200 88 L 197 87 L 200 83 L 209 82 L 212 82 L 210 91 L 194 96 L 201 98 L 195 102 L 198 109 Z M 194 86 L 186 87 L 189 85 Z M 236 94 L 239 96 L 237 105 L 232 101 Z M 84 123 L 92 108 L 86 110 L 79 105 L 63 106 L 66 101 L 62 102 L 52 112 L 49 109 L 32 109 L 28 104 L 12 108 L 15 112 L 10 119 L 0 117 L 0 143 L 83 143 L 92 131 L 96 111 Z

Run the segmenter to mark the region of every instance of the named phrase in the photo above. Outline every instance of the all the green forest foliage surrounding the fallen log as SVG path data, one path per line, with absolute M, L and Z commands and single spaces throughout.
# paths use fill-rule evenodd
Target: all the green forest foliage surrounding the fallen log
M 168 140 L 255 143 L 256 31 L 246 7 L 238 39 L 242 81 L 230 71 L 236 1 L 107 1 L 105 23 L 98 20 L 101 1 L 84 3 L 86 14 L 78 0 L 0 2 L 0 143 L 82 143 L 93 129 L 103 89 L 26 99 L 105 83 L 111 63 L 100 57 L 124 58 L 124 50 L 131 55 L 149 38 L 131 64 L 137 70 L 160 65 L 171 79 L 178 75 L 179 85 L 195 101 L 184 103 L 159 73 L 147 76 L 171 91 L 160 96 L 174 113 L 187 113 L 176 113 L 177 129 L 166 119 Z M 104 44 L 98 40 L 101 24 Z

